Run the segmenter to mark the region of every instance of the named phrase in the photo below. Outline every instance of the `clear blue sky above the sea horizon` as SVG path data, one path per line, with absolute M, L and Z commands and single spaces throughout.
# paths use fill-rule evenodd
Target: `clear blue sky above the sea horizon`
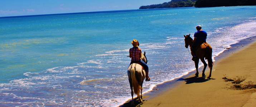
M 139 9 L 171 0 L 0 0 L 0 17 Z

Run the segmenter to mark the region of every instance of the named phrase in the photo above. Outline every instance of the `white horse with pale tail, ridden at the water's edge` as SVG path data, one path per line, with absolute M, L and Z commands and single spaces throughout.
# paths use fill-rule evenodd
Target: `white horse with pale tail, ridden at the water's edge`
M 146 52 L 144 52 L 144 54 L 141 54 L 141 59 L 145 63 L 148 63 Z M 145 79 L 146 72 L 145 70 L 143 70 L 143 67 L 140 64 L 132 63 L 128 67 L 127 74 L 129 77 L 129 83 L 131 88 L 132 105 L 134 105 L 133 92 L 137 95 L 139 101 L 142 102 L 142 84 Z

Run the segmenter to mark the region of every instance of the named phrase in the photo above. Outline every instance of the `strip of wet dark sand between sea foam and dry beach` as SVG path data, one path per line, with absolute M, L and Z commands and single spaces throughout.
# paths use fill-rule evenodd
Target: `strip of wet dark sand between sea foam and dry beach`
M 227 48 L 224 49 L 223 51 L 219 52 L 217 56 L 213 57 L 213 61 L 214 64 L 218 63 L 219 61 L 223 60 L 226 57 L 229 57 L 230 55 L 232 55 L 234 52 L 238 52 L 242 49 L 245 49 L 247 46 L 252 45 L 253 43 L 256 42 L 256 36 L 252 36 L 252 37 L 247 37 L 245 39 L 241 39 L 238 40 L 236 43 L 234 44 L 230 44 L 231 48 Z M 200 61 L 199 61 L 200 62 Z M 198 71 L 199 71 L 199 77 L 201 76 L 200 74 L 202 73 L 202 69 L 203 69 L 203 65 L 199 66 Z M 208 67 L 206 69 L 206 74 L 208 74 Z M 213 66 L 213 77 L 214 77 L 214 66 Z M 164 81 L 161 83 L 157 83 L 156 85 L 153 86 L 153 88 L 143 92 L 143 102 L 139 103 L 137 101 L 135 101 L 135 105 L 141 105 L 144 103 L 144 101 L 148 101 L 152 98 L 158 97 L 161 93 L 165 93 L 168 90 L 172 90 L 173 88 L 177 87 L 180 84 L 180 81 L 184 81 L 184 80 L 180 80 L 182 78 L 188 78 L 191 77 L 195 74 L 195 68 L 191 71 L 188 71 L 186 74 L 173 78 L 171 80 L 168 81 Z M 129 98 L 129 100 L 126 100 L 125 103 L 118 105 L 120 107 L 128 107 L 131 104 L 131 98 Z

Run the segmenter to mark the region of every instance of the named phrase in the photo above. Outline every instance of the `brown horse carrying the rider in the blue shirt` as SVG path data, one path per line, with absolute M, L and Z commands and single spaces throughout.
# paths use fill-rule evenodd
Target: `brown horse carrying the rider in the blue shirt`
M 192 44 L 193 44 L 193 39 L 190 37 L 189 35 L 184 35 L 185 37 L 185 47 L 188 48 L 188 45 L 190 46 L 190 50 L 192 50 Z M 213 66 L 213 62 L 212 62 L 212 47 L 210 44 L 208 43 L 203 43 L 200 47 L 198 47 L 198 49 L 195 51 L 195 55 L 198 57 L 194 60 L 195 62 L 195 68 L 197 70 L 197 73 L 195 73 L 195 76 L 198 77 L 198 63 L 199 63 L 199 59 L 203 62 L 204 64 L 204 69 L 203 69 L 203 73 L 202 76 L 204 77 L 204 71 L 207 67 L 207 63 L 205 62 L 204 58 L 206 58 L 208 60 L 208 66 L 210 68 L 210 74 L 208 76 L 208 78 L 211 78 L 212 76 L 212 66 Z

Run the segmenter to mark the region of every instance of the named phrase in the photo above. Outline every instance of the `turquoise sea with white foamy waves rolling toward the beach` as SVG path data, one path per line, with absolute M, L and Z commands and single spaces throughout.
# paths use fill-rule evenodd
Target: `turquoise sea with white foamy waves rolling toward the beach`
M 194 69 L 183 35 L 198 24 L 217 56 L 256 35 L 256 6 L 0 17 L 0 105 L 119 105 L 131 97 L 130 42 L 146 51 L 149 91 Z

